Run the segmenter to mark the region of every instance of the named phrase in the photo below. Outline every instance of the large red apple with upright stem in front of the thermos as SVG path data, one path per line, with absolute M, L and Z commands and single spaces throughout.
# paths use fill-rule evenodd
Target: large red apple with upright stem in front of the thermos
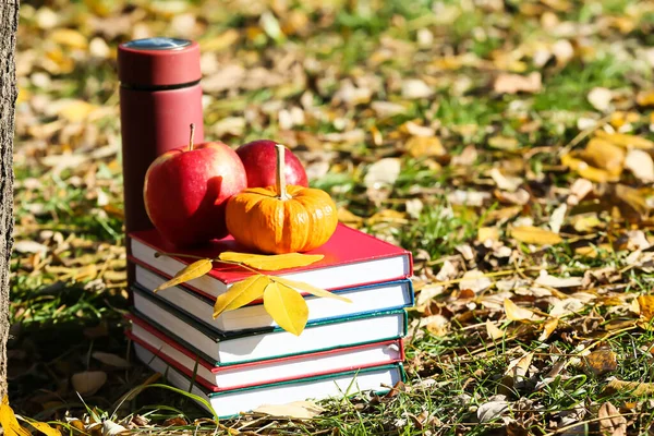
M 227 237 L 227 201 L 247 187 L 241 159 L 221 142 L 159 156 L 145 174 L 145 209 L 161 237 L 177 246 Z

